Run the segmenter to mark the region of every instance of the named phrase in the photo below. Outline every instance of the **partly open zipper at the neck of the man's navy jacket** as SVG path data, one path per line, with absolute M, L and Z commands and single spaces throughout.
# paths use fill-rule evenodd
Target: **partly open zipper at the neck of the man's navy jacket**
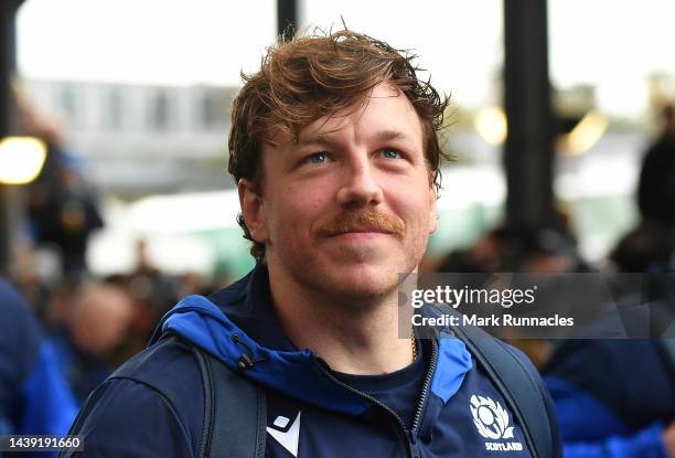
M 371 403 L 375 404 L 377 407 L 384 409 L 389 415 L 392 415 L 392 417 L 396 419 L 396 423 L 397 423 L 396 433 L 398 434 L 399 438 L 403 439 L 408 445 L 409 457 L 419 458 L 420 454 L 419 454 L 419 447 L 417 445 L 416 434 L 417 434 L 417 428 L 419 427 L 419 422 L 421 420 L 422 413 L 425 411 L 425 405 L 427 403 L 429 387 L 431 385 L 431 379 L 433 377 L 433 372 L 436 371 L 437 362 L 438 362 L 438 344 L 436 340 L 433 340 L 431 342 L 431 364 L 429 364 L 429 369 L 427 370 L 427 375 L 425 376 L 425 383 L 422 384 L 422 395 L 419 400 L 419 403 L 417 404 L 417 411 L 415 412 L 413 427 L 410 429 L 406 427 L 406 424 L 400 418 L 400 416 L 396 412 L 394 412 L 392 408 L 389 408 L 387 405 L 379 402 L 377 398 L 371 396 L 369 394 L 364 393 L 360 390 L 356 390 L 347 385 L 346 383 L 342 382 L 341 380 L 336 379 L 322 364 L 318 363 L 317 366 L 319 368 L 319 371 L 323 373 L 323 375 L 329 377 L 333 383 L 336 383 L 338 385 L 356 394 L 357 396 L 361 396 L 369 401 Z

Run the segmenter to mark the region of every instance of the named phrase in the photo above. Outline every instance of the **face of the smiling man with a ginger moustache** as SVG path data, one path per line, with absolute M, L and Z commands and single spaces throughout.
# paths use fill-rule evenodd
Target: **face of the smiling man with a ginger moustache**
M 383 83 L 345 113 L 262 149 L 262 187 L 239 183 L 244 217 L 266 245 L 270 276 L 330 298 L 390 294 L 436 231 L 422 127 Z

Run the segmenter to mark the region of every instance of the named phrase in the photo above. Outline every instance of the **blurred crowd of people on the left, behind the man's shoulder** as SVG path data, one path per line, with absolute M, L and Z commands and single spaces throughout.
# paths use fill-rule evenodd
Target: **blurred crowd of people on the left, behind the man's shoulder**
M 19 190 L 24 224 L 12 241 L 12 264 L 0 271 L 0 436 L 66 434 L 92 390 L 146 347 L 179 298 L 224 285 L 163 273 L 142 238 L 132 271 L 95 276 L 87 246 L 105 224 L 96 189 L 62 126 L 18 88 L 13 95 L 18 134 L 40 138 L 47 155 L 38 178 Z M 55 262 L 45 268 L 41 256 Z

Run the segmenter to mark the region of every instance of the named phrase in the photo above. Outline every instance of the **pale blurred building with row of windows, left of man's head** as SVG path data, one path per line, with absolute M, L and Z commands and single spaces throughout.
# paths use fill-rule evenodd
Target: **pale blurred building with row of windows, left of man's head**
M 28 79 L 36 107 L 63 123 L 67 145 L 103 191 L 136 196 L 223 189 L 235 87 Z

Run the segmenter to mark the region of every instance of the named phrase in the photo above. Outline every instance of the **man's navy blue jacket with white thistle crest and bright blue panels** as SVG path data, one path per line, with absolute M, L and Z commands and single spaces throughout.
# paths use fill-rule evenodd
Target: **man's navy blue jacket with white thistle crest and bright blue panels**
M 83 407 L 72 433 L 84 435 L 85 456 L 199 456 L 204 393 L 189 343 L 232 369 L 244 352 L 257 361 L 242 376 L 267 392 L 267 457 L 494 456 L 488 448 L 511 450 L 496 452 L 501 456 L 532 456 L 521 425 L 463 342 L 425 343 L 431 361 L 418 415 L 407 428 L 376 400 L 339 383 L 313 352 L 289 342 L 271 306 L 265 268 L 208 298 L 186 297 L 159 331 L 154 344 L 126 363 L 125 375 L 114 374 Z M 180 339 L 158 342 L 160 333 Z M 539 390 L 548 400 L 543 385 Z

